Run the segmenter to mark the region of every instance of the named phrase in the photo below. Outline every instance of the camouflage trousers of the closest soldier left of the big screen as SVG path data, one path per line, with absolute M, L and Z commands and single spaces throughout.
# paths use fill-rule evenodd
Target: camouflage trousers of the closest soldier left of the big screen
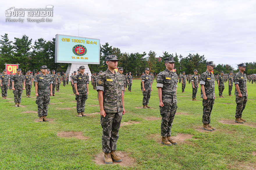
M 35 103 L 37 104 L 38 117 L 48 115 L 48 103 L 50 103 L 50 96 L 37 96 Z

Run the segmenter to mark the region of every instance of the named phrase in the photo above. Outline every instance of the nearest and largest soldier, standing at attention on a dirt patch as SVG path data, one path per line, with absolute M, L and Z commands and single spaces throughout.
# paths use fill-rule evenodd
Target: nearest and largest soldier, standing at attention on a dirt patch
M 115 72 L 118 64 L 116 55 L 106 57 L 108 69 L 99 75 L 96 90 L 99 97 L 100 124 L 102 126 L 102 151 L 106 164 L 121 162 L 116 153 L 116 143 L 122 115 L 125 114 L 124 87 L 122 76 Z

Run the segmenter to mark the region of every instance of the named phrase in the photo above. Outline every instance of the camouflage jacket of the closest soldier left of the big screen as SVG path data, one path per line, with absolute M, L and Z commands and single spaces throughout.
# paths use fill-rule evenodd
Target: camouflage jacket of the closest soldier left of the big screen
M 35 76 L 35 82 L 38 82 L 38 95 L 49 96 L 50 95 L 50 84 L 53 83 L 52 76 L 50 74 L 43 75 L 38 74 Z

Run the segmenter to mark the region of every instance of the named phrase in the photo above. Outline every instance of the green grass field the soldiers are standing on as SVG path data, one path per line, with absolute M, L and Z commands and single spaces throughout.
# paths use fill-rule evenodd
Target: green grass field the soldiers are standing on
M 90 82 L 91 83 L 91 82 Z M 153 83 L 151 109 L 142 109 L 140 80 L 133 80 L 132 92 L 125 92 L 125 110 L 119 131 L 117 150 L 129 155 L 133 164 L 98 165 L 95 157 L 102 153 L 97 91 L 89 84 L 86 117 L 77 117 L 72 87 L 61 85 L 57 96 L 51 97 L 48 118 L 51 122 L 36 122 L 35 88 L 31 98 L 22 94 L 22 105 L 14 107 L 13 93 L 0 99 L 0 169 L 256 169 L 256 84 L 247 83 L 248 102 L 243 111 L 244 124 L 234 124 L 235 96 L 228 96 L 225 83 L 223 96 L 218 97 L 211 113 L 213 132 L 202 130 L 202 99 L 192 100 L 191 84 L 181 93 L 177 88 L 177 114 L 172 136 L 174 146 L 160 144 L 161 116 L 156 81 Z M 225 124 L 226 123 L 226 124 Z M 59 132 L 81 132 L 85 140 L 61 138 Z M 179 136 L 190 136 L 181 139 Z M 103 158 L 102 158 L 103 159 Z

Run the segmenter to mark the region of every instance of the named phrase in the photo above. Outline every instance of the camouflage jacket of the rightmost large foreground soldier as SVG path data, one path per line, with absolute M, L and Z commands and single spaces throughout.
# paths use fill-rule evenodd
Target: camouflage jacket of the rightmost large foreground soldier
M 246 86 L 246 74 L 240 71 L 234 77 L 234 84 L 238 84 L 242 96 L 247 96 L 247 86 Z M 235 88 L 235 95 L 238 95 L 237 88 Z

